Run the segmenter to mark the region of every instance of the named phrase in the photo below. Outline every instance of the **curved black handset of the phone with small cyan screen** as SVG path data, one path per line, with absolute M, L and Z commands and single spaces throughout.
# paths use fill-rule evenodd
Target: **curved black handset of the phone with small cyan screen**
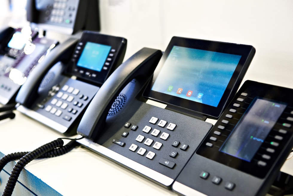
M 26 82 L 20 88 L 17 96 L 16 102 L 22 104 L 25 107 L 29 107 L 36 99 L 38 94 L 39 85 L 41 84 L 43 78 L 50 68 L 59 61 L 67 62 L 71 56 L 78 38 L 70 37 L 64 43 L 56 46 L 44 60 L 39 63 L 30 73 Z M 65 66 L 60 65 L 60 66 Z

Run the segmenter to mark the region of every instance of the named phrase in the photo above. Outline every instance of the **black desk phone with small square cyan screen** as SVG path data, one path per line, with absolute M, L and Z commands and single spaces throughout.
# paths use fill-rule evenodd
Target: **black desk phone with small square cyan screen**
M 69 38 L 33 69 L 16 96 L 17 110 L 71 134 L 100 86 L 122 63 L 126 42 L 94 31 L 84 31 L 79 40 Z

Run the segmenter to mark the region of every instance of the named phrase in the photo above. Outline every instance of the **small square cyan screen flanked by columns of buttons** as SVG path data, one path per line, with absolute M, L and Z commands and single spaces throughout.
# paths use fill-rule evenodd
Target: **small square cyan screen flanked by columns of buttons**
M 100 72 L 109 55 L 111 46 L 87 42 L 77 66 Z

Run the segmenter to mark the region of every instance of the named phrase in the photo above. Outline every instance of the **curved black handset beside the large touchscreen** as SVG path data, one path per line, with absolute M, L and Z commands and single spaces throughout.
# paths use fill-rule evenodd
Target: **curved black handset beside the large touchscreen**
M 105 125 L 108 111 L 120 91 L 134 78 L 148 79 L 161 56 L 160 50 L 143 48 L 121 64 L 92 99 L 77 127 L 77 134 L 88 139 L 96 138 Z

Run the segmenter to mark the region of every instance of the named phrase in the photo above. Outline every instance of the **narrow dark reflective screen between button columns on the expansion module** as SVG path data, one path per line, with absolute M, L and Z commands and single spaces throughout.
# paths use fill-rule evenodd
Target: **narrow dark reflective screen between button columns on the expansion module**
M 285 103 L 256 98 L 219 151 L 251 162 L 285 108 Z

